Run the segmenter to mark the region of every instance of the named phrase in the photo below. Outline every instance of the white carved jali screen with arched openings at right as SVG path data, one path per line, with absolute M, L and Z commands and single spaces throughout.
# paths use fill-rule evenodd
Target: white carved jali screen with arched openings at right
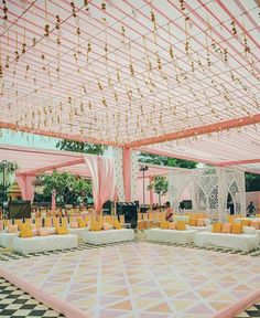
M 234 202 L 235 214 L 246 214 L 245 172 L 235 169 L 203 168 L 169 173 L 169 198 L 178 210 L 182 192 L 186 189 L 194 212 L 205 211 L 212 220 L 225 221 L 228 193 Z

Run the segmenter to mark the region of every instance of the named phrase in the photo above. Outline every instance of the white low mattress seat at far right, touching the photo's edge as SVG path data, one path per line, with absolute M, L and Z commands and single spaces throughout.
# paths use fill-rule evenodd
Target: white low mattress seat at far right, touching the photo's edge
M 258 234 L 198 232 L 194 243 L 197 246 L 219 246 L 250 252 L 259 247 L 259 236 Z

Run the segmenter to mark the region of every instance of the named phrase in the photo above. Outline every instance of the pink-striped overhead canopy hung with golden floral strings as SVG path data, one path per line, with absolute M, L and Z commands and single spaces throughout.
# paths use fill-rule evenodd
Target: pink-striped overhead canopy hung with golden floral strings
M 256 3 L 78 2 L 2 0 L 3 121 L 123 145 L 259 113 Z

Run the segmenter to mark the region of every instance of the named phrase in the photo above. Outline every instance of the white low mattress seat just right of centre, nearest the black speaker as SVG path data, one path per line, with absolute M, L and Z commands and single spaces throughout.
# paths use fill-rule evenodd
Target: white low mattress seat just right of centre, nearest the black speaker
M 150 229 L 147 230 L 147 239 L 156 242 L 169 242 L 169 243 L 193 243 L 194 236 L 197 233 L 196 230 L 162 230 L 162 229 Z

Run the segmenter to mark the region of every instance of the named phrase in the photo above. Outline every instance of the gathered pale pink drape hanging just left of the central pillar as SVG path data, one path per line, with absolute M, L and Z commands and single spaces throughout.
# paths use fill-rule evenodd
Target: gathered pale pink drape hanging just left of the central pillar
M 102 204 L 115 197 L 116 178 L 113 158 L 84 156 L 93 179 L 93 198 L 97 213 Z

